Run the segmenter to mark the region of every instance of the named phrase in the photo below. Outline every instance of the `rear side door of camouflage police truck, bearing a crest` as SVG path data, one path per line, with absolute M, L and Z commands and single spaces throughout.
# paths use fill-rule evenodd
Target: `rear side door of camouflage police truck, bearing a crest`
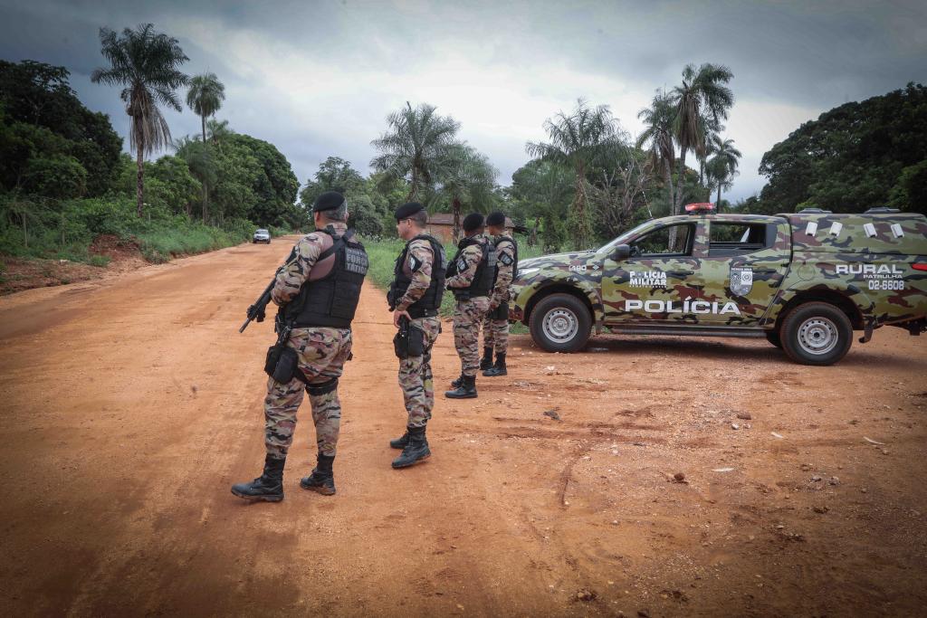
M 789 267 L 787 221 L 725 217 L 706 221 L 708 255 L 702 260 L 703 296 L 717 312 L 702 322 L 756 326 L 766 313 Z

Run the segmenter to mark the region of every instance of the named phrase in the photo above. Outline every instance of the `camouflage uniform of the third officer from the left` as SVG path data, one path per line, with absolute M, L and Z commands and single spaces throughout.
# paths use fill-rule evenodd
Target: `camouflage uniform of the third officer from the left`
M 483 258 L 481 247 L 489 244 L 489 238 L 484 234 L 476 236 L 479 245 L 464 247 L 460 259 L 464 260 L 465 268 L 458 267 L 457 273 L 448 277 L 448 288 L 464 288 L 473 283 L 476 268 Z M 464 266 L 464 263 L 461 266 Z M 461 358 L 462 370 L 465 376 L 476 376 L 479 369 L 479 325 L 489 311 L 489 296 L 475 296 L 466 300 L 458 300 L 454 308 L 454 347 Z

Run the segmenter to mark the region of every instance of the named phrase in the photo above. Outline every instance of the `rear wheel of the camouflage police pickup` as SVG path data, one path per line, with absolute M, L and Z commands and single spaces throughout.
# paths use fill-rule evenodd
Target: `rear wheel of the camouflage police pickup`
M 832 365 L 853 343 L 853 325 L 846 314 L 828 303 L 799 305 L 780 329 L 782 349 L 803 365 Z

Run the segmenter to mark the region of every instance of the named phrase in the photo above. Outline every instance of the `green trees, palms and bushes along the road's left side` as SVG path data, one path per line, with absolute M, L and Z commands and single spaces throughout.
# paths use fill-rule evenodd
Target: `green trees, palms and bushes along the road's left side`
M 0 255 L 105 266 L 93 247 L 106 236 L 160 262 L 236 245 L 258 227 L 306 226 L 279 150 L 210 119 L 224 99 L 215 75 L 189 79 L 176 40 L 150 24 L 102 29 L 100 41 L 106 66 L 93 81 L 123 86 L 134 158 L 108 116 L 83 106 L 68 69 L 0 61 Z M 187 85 L 202 131 L 174 140 L 160 108 L 182 109 Z

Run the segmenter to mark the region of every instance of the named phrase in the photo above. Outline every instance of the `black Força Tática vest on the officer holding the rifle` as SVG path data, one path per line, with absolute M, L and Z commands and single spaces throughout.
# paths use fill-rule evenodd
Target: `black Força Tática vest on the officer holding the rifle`
M 352 231 L 344 236 L 326 230 L 319 232 L 329 234 L 335 242 L 323 251 L 316 264 L 332 254 L 335 254 L 335 264 L 322 279 L 302 284 L 299 294 L 285 306 L 285 320 L 294 321 L 294 328 L 350 328 L 370 262 L 363 245 L 354 240 Z

